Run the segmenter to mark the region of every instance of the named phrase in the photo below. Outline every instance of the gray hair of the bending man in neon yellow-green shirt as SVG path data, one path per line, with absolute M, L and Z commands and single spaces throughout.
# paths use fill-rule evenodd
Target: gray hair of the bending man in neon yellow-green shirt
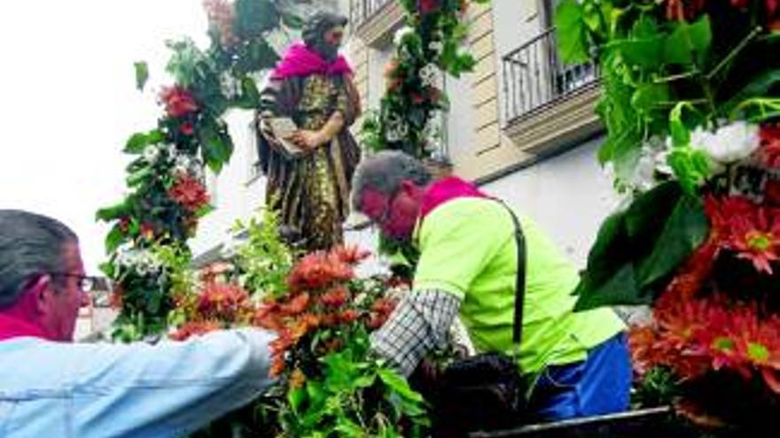
M 401 188 L 403 180 L 427 186 L 433 176 L 419 160 L 399 150 L 383 150 L 370 158 L 364 158 L 352 177 L 353 209 L 363 211 L 363 194 L 366 189 L 393 196 Z

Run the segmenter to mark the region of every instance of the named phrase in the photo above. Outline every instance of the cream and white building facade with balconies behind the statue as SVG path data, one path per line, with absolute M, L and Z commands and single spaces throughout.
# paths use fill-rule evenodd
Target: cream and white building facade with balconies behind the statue
M 552 29 L 554 0 L 492 0 L 472 4 L 464 41 L 474 72 L 441 78 L 450 111 L 441 117 L 441 153 L 455 173 L 534 217 L 559 246 L 584 265 L 597 227 L 615 204 L 597 163 L 602 142 L 594 106 L 600 88 L 595 65 L 563 65 Z M 350 17 L 345 53 L 355 68 L 363 108 L 377 109 L 393 36 L 403 26 L 398 0 L 341 0 Z M 236 151 L 208 185 L 217 210 L 203 220 L 196 255 L 218 251 L 235 219 L 263 201 L 252 114 L 230 114 Z M 359 123 L 355 124 L 355 131 Z M 347 240 L 376 247 L 376 235 L 351 220 Z

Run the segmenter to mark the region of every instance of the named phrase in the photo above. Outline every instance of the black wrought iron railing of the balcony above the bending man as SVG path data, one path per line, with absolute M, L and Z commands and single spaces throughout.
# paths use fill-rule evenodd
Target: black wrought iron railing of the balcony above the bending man
M 593 62 L 565 65 L 550 28 L 502 58 L 507 124 L 585 88 L 598 78 Z

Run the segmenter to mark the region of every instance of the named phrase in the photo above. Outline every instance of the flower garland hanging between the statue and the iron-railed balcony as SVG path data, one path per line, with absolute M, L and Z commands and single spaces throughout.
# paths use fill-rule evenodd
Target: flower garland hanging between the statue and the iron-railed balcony
M 475 0 L 487 3 L 488 0 Z M 370 150 L 403 150 L 430 158 L 438 136 L 433 115 L 447 111 L 438 88 L 441 73 L 470 72 L 474 59 L 461 50 L 468 0 L 402 0 L 407 27 L 394 36 L 395 56 L 386 65 L 387 88 L 379 110 L 367 114 L 361 141 Z

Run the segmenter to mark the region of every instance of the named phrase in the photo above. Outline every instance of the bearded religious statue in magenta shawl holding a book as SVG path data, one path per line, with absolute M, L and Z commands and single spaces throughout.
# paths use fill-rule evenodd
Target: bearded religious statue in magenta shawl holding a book
M 360 149 L 349 133 L 360 116 L 352 68 L 339 55 L 347 18 L 317 12 L 270 73 L 258 111 L 266 202 L 305 250 L 343 240 Z

